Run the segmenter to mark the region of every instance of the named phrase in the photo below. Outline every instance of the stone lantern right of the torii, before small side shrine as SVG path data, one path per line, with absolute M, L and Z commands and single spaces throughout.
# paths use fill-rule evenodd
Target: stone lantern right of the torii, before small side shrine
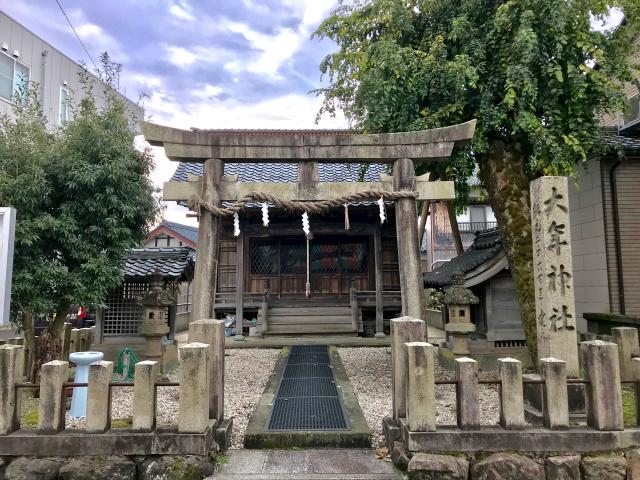
M 469 355 L 469 335 L 476 330 L 471 323 L 470 305 L 478 302 L 478 297 L 465 288 L 462 273 L 453 274 L 451 286 L 444 294 L 444 304 L 449 313 L 449 323 L 444 328 L 452 337 L 454 355 Z

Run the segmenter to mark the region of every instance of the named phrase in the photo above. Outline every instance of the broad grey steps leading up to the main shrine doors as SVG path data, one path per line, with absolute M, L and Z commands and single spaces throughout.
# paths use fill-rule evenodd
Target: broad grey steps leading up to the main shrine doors
M 261 318 L 261 314 L 258 314 Z M 353 331 L 351 307 L 300 305 L 269 307 L 269 328 L 264 335 L 309 334 L 357 335 Z

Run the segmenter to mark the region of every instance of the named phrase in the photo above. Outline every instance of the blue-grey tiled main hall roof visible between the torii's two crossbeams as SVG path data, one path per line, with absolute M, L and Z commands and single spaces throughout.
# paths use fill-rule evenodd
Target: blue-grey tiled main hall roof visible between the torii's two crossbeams
M 371 164 L 363 181 L 376 182 L 380 174 L 386 173 L 382 164 Z M 187 175 L 202 176 L 201 163 L 180 162 L 172 182 L 186 182 Z M 225 163 L 225 175 L 238 175 L 241 182 L 295 182 L 298 180 L 297 163 Z M 360 165 L 354 163 L 319 163 L 318 177 L 321 182 L 357 182 L 360 179 Z

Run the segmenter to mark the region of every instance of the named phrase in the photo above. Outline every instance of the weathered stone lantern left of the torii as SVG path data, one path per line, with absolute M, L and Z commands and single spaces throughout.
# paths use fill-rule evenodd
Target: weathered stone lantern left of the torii
M 145 360 L 155 360 L 162 365 L 162 337 L 169 333 L 165 318 L 167 307 L 176 303 L 175 292 L 164 288 L 163 277 L 156 272 L 151 277 L 149 290 L 138 299 L 144 307 L 144 316 L 139 333 L 146 340 Z

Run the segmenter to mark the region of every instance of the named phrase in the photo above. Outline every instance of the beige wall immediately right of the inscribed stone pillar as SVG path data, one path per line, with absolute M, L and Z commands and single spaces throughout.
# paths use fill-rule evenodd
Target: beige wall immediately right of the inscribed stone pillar
M 600 161 L 590 160 L 569 181 L 573 275 L 578 330 L 586 331 L 584 312 L 609 312 L 609 283 Z

